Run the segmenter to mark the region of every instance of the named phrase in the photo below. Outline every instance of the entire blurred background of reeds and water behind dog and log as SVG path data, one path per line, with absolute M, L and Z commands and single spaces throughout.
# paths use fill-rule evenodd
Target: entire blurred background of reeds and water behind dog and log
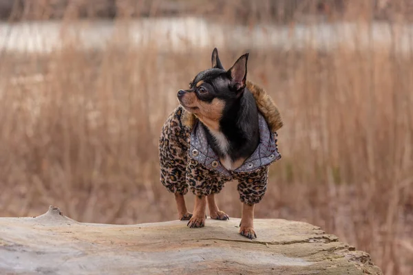
M 256 217 L 413 274 L 413 1 L 1 0 L 0 19 L 1 217 L 177 219 L 160 129 L 218 47 L 227 69 L 250 52 L 284 118 Z M 218 203 L 240 217 L 236 183 Z

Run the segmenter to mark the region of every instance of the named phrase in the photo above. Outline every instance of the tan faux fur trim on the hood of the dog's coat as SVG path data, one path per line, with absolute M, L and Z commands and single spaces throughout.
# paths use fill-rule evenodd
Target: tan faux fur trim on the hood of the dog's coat
M 275 133 L 278 131 L 283 126 L 283 122 L 273 98 L 271 98 L 264 89 L 251 81 L 246 82 L 246 87 L 253 94 L 255 101 L 257 102 L 258 110 L 264 116 L 271 132 Z M 184 126 L 188 126 L 192 129 L 196 122 L 198 122 L 198 118 L 196 118 L 193 113 L 189 113 L 188 111 L 182 113 L 182 123 Z

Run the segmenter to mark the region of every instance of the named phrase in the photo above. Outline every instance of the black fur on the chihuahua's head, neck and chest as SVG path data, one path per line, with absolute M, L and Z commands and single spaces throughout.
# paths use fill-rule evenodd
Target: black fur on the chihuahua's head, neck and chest
M 220 119 L 220 131 L 229 141 L 229 150 L 222 152 L 207 126 L 202 126 L 207 129 L 207 140 L 215 153 L 220 157 L 229 155 L 232 161 L 240 157 L 249 157 L 260 143 L 257 104 L 253 94 L 245 86 L 247 58 L 248 54 L 245 54 L 238 59 L 242 61 L 241 65 L 237 65 L 238 61 L 234 64 L 233 67 L 237 66 L 236 69 L 240 69 L 239 79 L 234 79 L 231 75 L 233 67 L 228 71 L 224 69 L 215 48 L 211 58 L 215 67 L 200 72 L 190 83 L 189 91 L 195 92 L 199 100 L 211 102 L 213 98 L 219 98 L 225 102 Z M 201 80 L 202 85 L 196 87 Z M 199 89 L 207 89 L 208 93 L 201 94 Z

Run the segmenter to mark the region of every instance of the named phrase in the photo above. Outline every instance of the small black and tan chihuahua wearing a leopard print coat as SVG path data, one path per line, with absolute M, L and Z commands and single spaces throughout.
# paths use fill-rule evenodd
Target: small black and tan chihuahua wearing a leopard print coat
M 207 218 L 226 220 L 215 194 L 226 181 L 237 180 L 243 203 L 240 234 L 256 238 L 254 206 L 266 192 L 268 166 L 281 157 L 277 130 L 279 111 L 268 94 L 246 80 L 248 53 L 225 70 L 215 48 L 212 67 L 178 91 L 177 107 L 162 127 L 159 143 L 160 180 L 173 192 L 180 220 L 201 228 Z M 193 213 L 184 195 L 195 195 Z

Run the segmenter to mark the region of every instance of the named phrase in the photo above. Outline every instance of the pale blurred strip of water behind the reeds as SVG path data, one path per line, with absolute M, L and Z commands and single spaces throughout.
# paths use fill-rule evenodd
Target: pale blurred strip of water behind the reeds
M 0 23 L 0 50 L 46 53 L 59 47 L 61 34 L 76 36 L 78 45 L 102 49 L 109 43 L 122 46 L 128 37 L 136 46 L 157 47 L 160 52 L 183 52 L 190 48 L 233 47 L 234 49 L 315 47 L 334 50 L 337 46 L 388 47 L 399 53 L 412 52 L 413 26 L 375 22 L 318 23 L 314 25 L 221 25 L 194 17 L 118 21 L 60 21 Z M 126 34 L 126 35 L 125 35 Z M 130 45 L 130 44 L 129 44 Z

